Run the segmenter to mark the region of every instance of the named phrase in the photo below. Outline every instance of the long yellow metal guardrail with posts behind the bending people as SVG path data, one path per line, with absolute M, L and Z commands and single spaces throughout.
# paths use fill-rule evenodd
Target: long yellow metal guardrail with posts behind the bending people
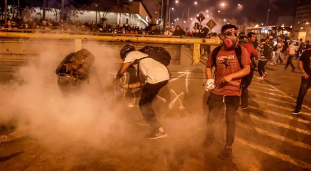
M 201 45 L 219 45 L 220 40 L 202 38 L 175 38 L 175 37 L 136 37 L 117 35 L 90 35 L 90 34 L 51 34 L 51 33 L 16 33 L 0 32 L 0 38 L 18 39 L 67 39 L 75 41 L 75 51 L 82 49 L 83 40 L 133 42 L 133 43 L 163 43 L 163 44 L 192 44 L 192 65 L 200 63 Z

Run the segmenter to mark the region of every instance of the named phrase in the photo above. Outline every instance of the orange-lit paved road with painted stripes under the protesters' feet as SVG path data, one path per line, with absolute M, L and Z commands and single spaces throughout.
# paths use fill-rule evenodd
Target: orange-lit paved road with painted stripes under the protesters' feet
M 161 116 L 169 137 L 147 140 L 149 128 L 133 124 L 140 116 L 131 108 L 115 121 L 97 118 L 86 128 L 77 123 L 75 130 L 60 128 L 4 143 L 0 171 L 309 171 L 311 92 L 303 113 L 293 116 L 300 73 L 283 66 L 268 66 L 268 72 L 265 81 L 254 77 L 249 109 L 238 111 L 231 159 L 217 157 L 224 139 L 220 120 L 216 142 L 204 149 L 206 115 L 201 112 Z M 84 132 L 92 126 L 96 131 Z

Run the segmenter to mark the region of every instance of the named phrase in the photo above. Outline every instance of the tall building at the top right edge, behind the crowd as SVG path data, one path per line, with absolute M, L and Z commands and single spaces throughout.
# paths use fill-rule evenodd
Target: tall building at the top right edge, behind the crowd
M 294 38 L 311 40 L 311 0 L 298 0 Z

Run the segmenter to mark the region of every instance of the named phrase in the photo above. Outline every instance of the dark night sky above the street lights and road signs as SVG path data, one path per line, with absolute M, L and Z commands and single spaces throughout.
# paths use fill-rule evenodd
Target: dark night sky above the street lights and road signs
M 182 18 L 183 11 L 184 19 L 187 19 L 188 6 L 191 4 L 190 17 L 195 17 L 200 11 L 207 15 L 205 11 L 208 10 L 209 16 L 217 15 L 221 18 L 234 16 L 238 24 L 242 24 L 245 20 L 266 23 L 269 0 L 196 0 L 197 5 L 194 5 L 194 1 L 179 0 L 179 3 L 175 4 L 175 0 L 170 0 L 170 6 L 174 7 L 174 11 L 171 12 L 171 20 L 177 17 Z M 226 4 L 224 8 L 220 5 L 222 2 Z M 242 6 L 238 7 L 239 3 Z M 271 0 L 268 25 L 276 24 L 279 16 L 295 16 L 296 3 L 297 0 Z M 218 13 L 218 10 L 221 13 Z

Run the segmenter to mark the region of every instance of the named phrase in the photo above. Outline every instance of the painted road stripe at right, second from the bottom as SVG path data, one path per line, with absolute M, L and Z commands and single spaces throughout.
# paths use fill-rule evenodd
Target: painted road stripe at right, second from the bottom
M 259 134 L 262 134 L 264 136 L 273 137 L 273 138 L 276 138 L 278 140 L 285 141 L 287 143 L 293 144 L 295 146 L 298 146 L 298 147 L 301 147 L 301 148 L 304 148 L 307 150 L 311 150 L 311 145 L 309 145 L 309 144 L 306 144 L 306 143 L 303 143 L 300 141 L 295 141 L 293 139 L 289 139 L 287 137 L 280 136 L 278 134 L 269 133 L 266 130 L 260 129 L 260 128 L 255 127 L 255 126 L 246 125 L 245 123 L 242 123 L 242 122 L 237 122 L 237 125 L 242 127 L 242 128 L 249 129 L 249 130 L 253 130 L 253 128 L 254 128 Z

